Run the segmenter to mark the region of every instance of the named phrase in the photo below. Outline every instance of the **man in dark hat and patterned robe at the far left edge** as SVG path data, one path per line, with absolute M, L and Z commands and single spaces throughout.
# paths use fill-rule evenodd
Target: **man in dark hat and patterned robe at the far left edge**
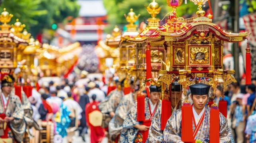
M 22 142 L 25 133 L 24 110 L 20 98 L 12 92 L 14 78 L 2 76 L 0 98 L 0 142 Z

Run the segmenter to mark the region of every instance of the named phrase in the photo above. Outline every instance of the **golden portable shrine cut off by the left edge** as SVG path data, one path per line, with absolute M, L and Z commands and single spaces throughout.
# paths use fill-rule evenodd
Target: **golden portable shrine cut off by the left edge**
M 36 49 L 39 48 L 39 41 L 33 39 L 31 34 L 23 29 L 19 19 L 13 25 L 8 24 L 13 15 L 9 14 L 4 8 L 4 12 L 0 15 L 2 22 L 0 30 L 0 69 L 2 74 L 12 73 L 14 69 L 19 68 L 18 74 L 26 79 L 32 75 L 34 69 L 34 58 Z

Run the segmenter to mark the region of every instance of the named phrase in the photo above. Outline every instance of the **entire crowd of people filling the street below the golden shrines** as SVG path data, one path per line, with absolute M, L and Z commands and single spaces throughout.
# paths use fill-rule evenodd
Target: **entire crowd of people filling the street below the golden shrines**
M 128 79 L 119 79 L 117 76 L 106 84 L 104 80 L 97 77 L 89 79 L 86 75 L 87 72 L 82 72 L 78 81 L 50 81 L 40 88 L 33 88 L 28 98 L 22 92 L 21 102 L 14 94 L 13 82 L 10 82 L 9 77 L 2 79 L 0 103 L 3 108 L 0 109 L 6 110 L 6 114 L 0 115 L 0 124 L 7 122 L 12 125 L 9 131 L 13 131 L 16 141 L 21 141 L 22 137 L 18 133 L 24 132 L 26 128 L 34 126 L 40 130 L 36 124 L 39 120 L 52 122 L 59 141 L 61 136 L 68 143 L 72 142 L 77 130 L 84 141 L 85 134 L 90 134 L 91 143 L 100 143 L 104 137 L 108 137 L 111 143 L 169 143 L 181 140 L 181 107 L 186 97 L 177 81 L 171 84 L 171 108 L 166 109 L 160 100 L 166 91 L 162 92 L 162 87 L 157 84 L 141 92 L 141 83 L 133 81 L 133 78 L 129 79 L 129 85 Z M 220 114 L 220 140 L 231 143 L 256 142 L 255 85 L 256 79 L 252 79 L 251 85 L 245 85 L 244 79 L 237 80 L 228 85 L 225 93 L 222 93 L 221 85 L 217 86 L 215 103 L 219 104 L 223 98 L 227 101 L 227 118 Z M 207 124 L 207 118 L 210 118 L 207 106 L 209 89 L 210 86 L 203 83 L 187 88 L 188 100 L 194 103 L 193 126 L 199 128 L 195 138 L 206 142 L 209 141 L 210 133 Z M 22 112 L 18 111 L 22 108 Z M 30 108 L 33 110 L 31 115 L 29 113 L 32 112 L 26 110 Z M 166 126 L 161 119 L 164 117 L 162 108 L 172 115 Z M 201 118 L 203 113 L 207 115 L 206 120 Z M 6 118 L 8 114 L 10 116 Z M 31 125 L 29 118 L 32 120 Z M 201 122 L 207 126 L 197 127 Z M 174 128 L 177 130 L 174 131 Z M 204 128 L 205 133 L 201 131 Z

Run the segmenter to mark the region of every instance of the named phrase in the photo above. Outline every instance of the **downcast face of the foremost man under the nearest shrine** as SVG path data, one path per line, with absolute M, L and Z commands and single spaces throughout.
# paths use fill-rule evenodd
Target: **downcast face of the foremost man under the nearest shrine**
M 193 100 L 193 106 L 196 109 L 203 109 L 203 107 L 207 104 L 207 95 L 190 95 L 190 97 Z

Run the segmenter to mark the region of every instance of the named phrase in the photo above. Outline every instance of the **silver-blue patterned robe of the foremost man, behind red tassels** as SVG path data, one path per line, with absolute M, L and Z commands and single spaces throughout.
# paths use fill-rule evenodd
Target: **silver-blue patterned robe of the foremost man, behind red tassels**
M 209 134 L 210 134 L 210 110 L 211 108 L 205 108 L 205 114 L 203 122 L 195 136 L 195 139 L 201 140 L 202 143 L 209 143 Z M 191 117 L 192 118 L 192 117 Z M 181 120 L 182 112 L 181 109 L 178 109 L 172 114 L 169 120 L 166 123 L 164 129 L 164 143 L 179 143 L 181 141 Z M 223 114 L 219 114 L 220 129 L 219 137 L 220 143 L 235 143 L 231 134 L 231 130 L 228 127 L 227 118 Z M 193 123 L 193 131 L 195 130 L 195 125 Z

